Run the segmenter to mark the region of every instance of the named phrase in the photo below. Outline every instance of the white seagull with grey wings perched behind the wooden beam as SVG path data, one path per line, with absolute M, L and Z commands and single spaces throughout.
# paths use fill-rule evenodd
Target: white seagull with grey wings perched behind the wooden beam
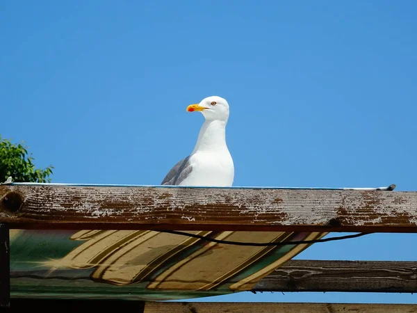
M 201 112 L 204 123 L 193 152 L 167 173 L 162 185 L 228 187 L 234 180 L 234 163 L 226 144 L 229 104 L 211 96 L 191 104 L 188 112 Z

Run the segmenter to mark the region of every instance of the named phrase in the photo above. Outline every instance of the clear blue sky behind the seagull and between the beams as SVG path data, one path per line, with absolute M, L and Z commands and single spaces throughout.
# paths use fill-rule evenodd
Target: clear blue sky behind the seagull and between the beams
M 160 184 L 202 124 L 186 106 L 220 95 L 234 186 L 417 190 L 416 1 L 5 1 L 0 16 L 0 134 L 54 165 L 54 182 Z M 416 260 L 416 239 L 373 234 L 297 258 Z

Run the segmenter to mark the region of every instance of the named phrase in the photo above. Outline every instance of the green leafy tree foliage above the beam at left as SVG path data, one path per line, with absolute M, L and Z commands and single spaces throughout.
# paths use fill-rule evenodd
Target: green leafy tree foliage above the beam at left
M 0 136 L 0 182 L 10 176 L 13 182 L 51 182 L 49 175 L 54 166 L 37 169 L 33 160 L 24 145 L 11 143 Z

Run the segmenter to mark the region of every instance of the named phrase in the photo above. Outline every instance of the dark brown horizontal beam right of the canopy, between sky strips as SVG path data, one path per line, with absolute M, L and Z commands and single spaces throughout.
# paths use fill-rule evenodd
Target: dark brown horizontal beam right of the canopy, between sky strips
M 417 262 L 290 260 L 252 291 L 417 292 Z

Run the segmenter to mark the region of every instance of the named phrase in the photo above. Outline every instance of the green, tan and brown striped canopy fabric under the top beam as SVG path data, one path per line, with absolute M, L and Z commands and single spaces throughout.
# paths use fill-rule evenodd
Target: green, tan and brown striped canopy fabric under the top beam
M 319 239 L 318 232 L 189 232 L 243 242 Z M 252 289 L 306 244 L 234 246 L 133 230 L 12 230 L 12 296 L 174 300 Z

